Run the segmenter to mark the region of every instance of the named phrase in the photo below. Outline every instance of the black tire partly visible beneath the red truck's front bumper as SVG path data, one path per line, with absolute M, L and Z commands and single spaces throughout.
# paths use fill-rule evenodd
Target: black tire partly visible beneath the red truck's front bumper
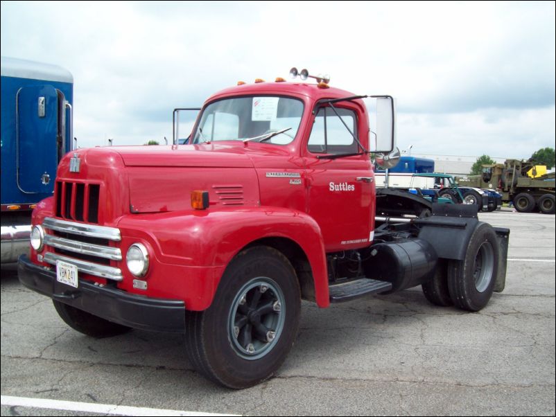
M 128 326 L 122 326 L 121 324 L 101 319 L 101 317 L 79 310 L 71 305 L 60 303 L 60 301 L 52 300 L 52 302 L 62 320 L 69 327 L 84 335 L 100 339 L 102 337 L 121 335 L 131 330 Z

